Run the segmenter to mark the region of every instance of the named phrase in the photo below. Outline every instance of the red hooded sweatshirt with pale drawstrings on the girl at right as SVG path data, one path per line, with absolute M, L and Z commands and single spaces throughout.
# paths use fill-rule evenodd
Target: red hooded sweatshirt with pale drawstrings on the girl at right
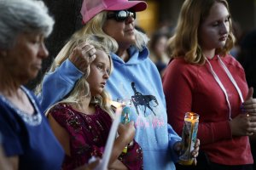
M 221 59 L 245 99 L 248 88 L 243 68 L 232 56 Z M 234 118 L 241 114 L 239 94 L 218 62 L 218 57 L 208 60 L 227 91 L 231 117 Z M 231 134 L 229 106 L 207 62 L 204 65 L 191 65 L 184 59 L 173 59 L 163 77 L 163 88 L 168 122 L 179 135 L 183 130 L 184 114 L 193 111 L 200 115 L 197 137 L 201 140 L 201 150 L 207 153 L 212 162 L 224 165 L 253 163 L 248 137 L 234 137 Z

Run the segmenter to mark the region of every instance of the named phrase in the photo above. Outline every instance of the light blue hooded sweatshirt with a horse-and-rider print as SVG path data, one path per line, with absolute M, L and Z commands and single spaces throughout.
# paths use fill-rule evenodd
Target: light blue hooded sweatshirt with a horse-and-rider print
M 131 59 L 126 63 L 116 54 L 111 54 L 113 73 L 108 79 L 107 91 L 113 100 L 132 101 L 130 118 L 136 127 L 135 140 L 143 148 L 144 169 L 174 170 L 177 154 L 173 151 L 173 144 L 181 138 L 167 124 L 166 99 L 160 74 L 148 58 L 148 48 L 139 52 L 131 47 L 129 54 Z M 68 59 L 55 72 L 47 75 L 43 95 L 38 96 L 44 110 L 65 97 L 82 75 Z

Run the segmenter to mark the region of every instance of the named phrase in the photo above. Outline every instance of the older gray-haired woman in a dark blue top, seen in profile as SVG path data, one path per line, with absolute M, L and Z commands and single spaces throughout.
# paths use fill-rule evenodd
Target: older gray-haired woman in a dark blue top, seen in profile
M 11 169 L 60 169 L 64 152 L 35 96 L 23 85 L 48 56 L 54 20 L 44 3 L 0 1 L 0 131 Z

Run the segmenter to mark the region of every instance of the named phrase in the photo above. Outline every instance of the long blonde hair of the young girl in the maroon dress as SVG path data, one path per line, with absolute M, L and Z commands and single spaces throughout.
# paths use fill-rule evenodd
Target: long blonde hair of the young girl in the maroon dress
M 90 45 L 93 45 L 96 50 L 102 50 L 106 54 L 108 54 L 109 62 L 110 62 L 110 73 L 113 71 L 113 62 L 110 57 L 110 51 L 108 48 L 102 45 L 101 42 L 98 42 L 98 38 L 93 35 L 85 35 L 84 37 L 79 38 L 72 38 L 67 44 L 61 49 L 61 52 L 56 56 L 55 61 L 50 66 L 49 72 L 55 71 L 57 67 L 59 67 L 66 59 L 68 59 L 68 56 L 73 52 L 73 48 L 77 47 L 79 43 L 81 42 L 88 42 Z M 113 48 L 115 50 L 115 48 Z M 113 111 L 110 108 L 109 100 L 110 96 L 108 93 L 103 90 L 102 94 L 99 94 L 97 96 L 90 96 L 90 86 L 88 82 L 86 81 L 87 77 L 90 75 L 90 69 L 88 69 L 84 76 L 79 78 L 79 80 L 75 83 L 73 90 L 67 95 L 65 99 L 62 99 L 60 102 L 56 103 L 55 105 L 59 103 L 67 103 L 67 104 L 74 104 L 79 105 L 82 102 L 82 99 L 84 98 L 90 98 L 90 103 L 96 103 L 99 105 L 102 110 L 107 111 L 110 116 L 113 116 Z M 37 88 L 37 94 L 40 93 L 42 90 L 42 82 Z M 49 110 L 54 107 L 55 105 L 52 105 L 48 111 L 46 111 L 46 115 L 48 114 Z

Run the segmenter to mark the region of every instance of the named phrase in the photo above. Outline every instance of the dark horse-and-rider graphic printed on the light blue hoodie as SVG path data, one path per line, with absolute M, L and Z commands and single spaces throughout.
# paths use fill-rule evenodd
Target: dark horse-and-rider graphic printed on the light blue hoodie
M 152 109 L 152 107 L 156 107 L 157 105 L 159 105 L 155 96 L 143 95 L 140 92 L 138 92 L 135 87 L 135 82 L 131 82 L 131 88 L 133 89 L 133 92 L 134 92 L 134 95 L 131 96 L 131 101 L 136 108 L 137 115 L 139 115 L 139 111 L 137 109 L 139 105 L 144 106 L 144 116 L 146 116 L 147 108 L 154 113 L 154 110 Z M 154 116 L 156 116 L 155 113 L 154 113 Z

